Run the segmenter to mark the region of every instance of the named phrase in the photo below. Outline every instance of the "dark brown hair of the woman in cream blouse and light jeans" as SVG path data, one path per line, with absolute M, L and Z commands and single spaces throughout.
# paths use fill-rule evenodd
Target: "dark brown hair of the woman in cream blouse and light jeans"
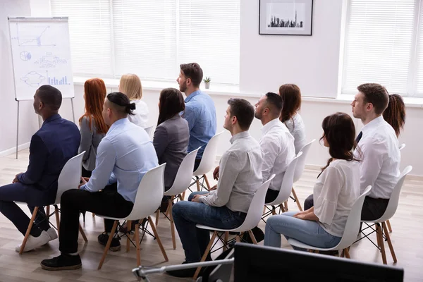
M 326 138 L 326 142 L 329 144 L 329 154 L 331 155 L 326 166 L 321 168 L 321 172 L 331 164 L 333 159 L 358 161 L 353 154 L 353 149 L 357 146 L 355 142 L 355 125 L 348 114 L 338 112 L 326 116 L 321 123 L 321 128 L 323 128 L 323 135 L 320 140 Z

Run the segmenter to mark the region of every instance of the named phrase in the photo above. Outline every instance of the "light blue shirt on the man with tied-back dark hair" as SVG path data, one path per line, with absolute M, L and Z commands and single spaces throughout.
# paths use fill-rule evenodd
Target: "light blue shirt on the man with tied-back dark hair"
M 80 189 L 97 192 L 117 182 L 118 193 L 135 202 L 142 177 L 158 165 L 153 143 L 144 128 L 121 118 L 100 142 L 90 181 Z

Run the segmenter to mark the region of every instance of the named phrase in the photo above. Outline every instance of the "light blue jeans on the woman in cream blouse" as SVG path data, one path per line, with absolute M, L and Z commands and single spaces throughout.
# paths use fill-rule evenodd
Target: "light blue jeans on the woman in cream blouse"
M 341 241 L 337 237 L 327 233 L 317 221 L 296 219 L 293 217 L 298 212 L 284 212 L 278 216 L 270 216 L 266 222 L 264 245 L 281 247 L 281 235 L 286 240 L 293 238 L 307 245 L 321 248 L 335 247 Z M 304 250 L 294 247 L 294 250 Z

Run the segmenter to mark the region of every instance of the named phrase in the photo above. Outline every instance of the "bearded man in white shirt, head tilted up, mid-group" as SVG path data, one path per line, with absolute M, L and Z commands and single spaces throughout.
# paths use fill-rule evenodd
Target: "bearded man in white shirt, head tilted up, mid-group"
M 276 174 L 271 180 L 266 193 L 266 203 L 273 202 L 281 190 L 283 176 L 290 161 L 295 158 L 294 137 L 286 125 L 279 120 L 283 109 L 283 100 L 276 93 L 264 94 L 255 104 L 255 118 L 262 121 L 263 137 L 260 140 L 262 149 L 263 181 Z

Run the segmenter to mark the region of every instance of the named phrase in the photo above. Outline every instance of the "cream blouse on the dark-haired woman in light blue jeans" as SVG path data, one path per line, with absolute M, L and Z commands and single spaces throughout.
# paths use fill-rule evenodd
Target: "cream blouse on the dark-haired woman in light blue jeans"
M 314 185 L 314 214 L 324 230 L 342 237 L 350 210 L 360 197 L 360 164 L 336 159 Z

